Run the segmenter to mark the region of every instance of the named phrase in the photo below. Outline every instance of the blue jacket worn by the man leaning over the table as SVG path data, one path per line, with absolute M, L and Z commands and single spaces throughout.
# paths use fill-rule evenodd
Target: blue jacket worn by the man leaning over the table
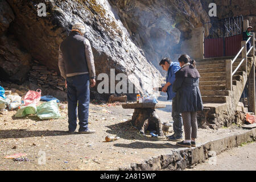
M 170 82 L 171 85 L 167 88 L 167 100 L 172 100 L 176 96 L 176 93 L 172 91 L 172 84 L 175 81 L 175 73 L 180 70 L 179 62 L 172 62 L 167 72 L 166 82 Z

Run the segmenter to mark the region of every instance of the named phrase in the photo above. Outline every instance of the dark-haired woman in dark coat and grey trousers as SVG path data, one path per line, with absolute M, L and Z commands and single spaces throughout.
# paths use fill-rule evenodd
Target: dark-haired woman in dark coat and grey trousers
M 196 111 L 203 110 L 203 102 L 199 90 L 199 72 L 195 60 L 188 55 L 179 58 L 180 70 L 175 73 L 176 80 L 172 90 L 176 92 L 175 108 L 181 113 L 185 131 L 185 140 L 177 142 L 178 146 L 195 147 L 197 137 Z M 192 131 L 191 131 L 192 128 Z

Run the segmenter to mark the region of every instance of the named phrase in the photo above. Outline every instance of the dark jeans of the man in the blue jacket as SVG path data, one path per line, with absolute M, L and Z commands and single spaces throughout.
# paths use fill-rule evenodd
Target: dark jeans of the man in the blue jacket
M 175 137 L 180 137 L 183 134 L 182 131 L 182 117 L 181 117 L 181 113 L 177 113 L 174 111 L 174 102 L 176 102 L 176 98 L 174 97 L 172 99 L 172 120 L 174 121 L 174 135 Z

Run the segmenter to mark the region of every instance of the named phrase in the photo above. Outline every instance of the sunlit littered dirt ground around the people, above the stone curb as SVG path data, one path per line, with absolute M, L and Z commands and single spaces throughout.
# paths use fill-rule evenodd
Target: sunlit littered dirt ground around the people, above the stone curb
M 161 101 L 160 101 L 161 102 Z M 171 121 L 171 102 L 157 109 L 163 122 Z M 133 109 L 121 105 L 90 104 L 89 127 L 95 134 L 67 134 L 67 104 L 60 104 L 60 119 L 40 120 L 35 115 L 15 118 L 16 111 L 0 113 L 0 170 L 117 170 L 152 156 L 169 154 L 177 146 L 166 138 L 138 133 L 129 119 Z M 78 130 L 78 126 L 77 126 Z M 172 127 L 167 135 L 172 134 Z M 237 126 L 218 130 L 199 129 L 197 143 L 244 132 Z M 107 135 L 120 139 L 105 142 Z M 5 159 L 26 153 L 28 162 Z

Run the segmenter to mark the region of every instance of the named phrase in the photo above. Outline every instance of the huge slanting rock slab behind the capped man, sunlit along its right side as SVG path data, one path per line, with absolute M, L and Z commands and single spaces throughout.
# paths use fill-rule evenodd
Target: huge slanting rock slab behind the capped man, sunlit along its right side
M 110 75 L 110 68 L 115 69 L 115 74 L 125 73 L 129 81 L 139 89 L 138 78 L 143 85 L 151 85 L 152 81 L 158 82 L 160 73 L 143 56 L 141 51 L 129 38 L 126 28 L 115 19 L 108 1 L 47 1 L 47 16 L 38 16 L 38 4 L 42 1 L 3 1 L 9 9 L 1 18 L 1 32 L 15 35 L 19 44 L 29 52 L 29 55 L 40 64 L 49 69 L 59 70 L 57 67 L 58 49 L 61 41 L 67 37 L 75 22 L 84 22 L 86 26 L 85 37 L 90 40 L 96 64 L 96 75 L 106 73 Z M 8 13 L 11 12 L 11 13 Z M 15 14 L 15 16 L 13 15 Z M 7 20 L 6 20 L 7 19 Z M 10 65 L 23 67 L 26 52 L 16 53 L 15 59 L 8 54 L 13 53 L 13 44 L 6 46 L 7 34 L 2 35 L 0 67 L 6 77 L 15 75 L 18 71 L 11 70 Z M 15 47 L 18 45 L 15 44 Z M 17 62 L 17 63 L 16 63 Z M 8 69 L 8 68 L 10 69 Z M 29 69 L 29 68 L 28 68 Z M 23 70 L 24 75 L 28 72 Z M 25 77 L 25 76 L 22 77 Z M 22 81 L 22 80 L 20 80 Z M 142 91 L 142 90 L 141 90 Z M 94 89 L 94 92 L 96 90 Z

